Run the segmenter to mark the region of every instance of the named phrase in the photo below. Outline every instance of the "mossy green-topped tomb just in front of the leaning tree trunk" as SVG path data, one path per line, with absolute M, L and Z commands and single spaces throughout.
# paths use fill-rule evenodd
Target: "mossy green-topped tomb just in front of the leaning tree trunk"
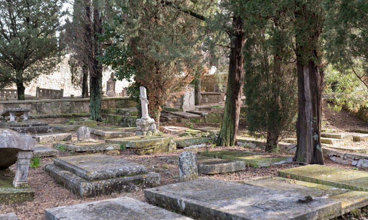
M 291 156 L 271 157 L 267 154 L 249 152 L 249 151 L 201 151 L 198 154 L 221 158 L 226 160 L 244 161 L 246 165 L 253 167 L 266 167 L 270 165 L 290 163 Z

